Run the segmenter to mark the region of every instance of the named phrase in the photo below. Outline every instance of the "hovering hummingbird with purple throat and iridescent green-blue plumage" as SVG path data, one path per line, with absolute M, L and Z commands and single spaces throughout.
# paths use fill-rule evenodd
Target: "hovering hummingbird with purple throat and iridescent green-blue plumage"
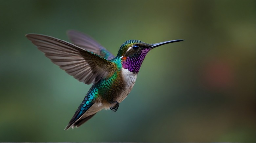
M 120 102 L 132 90 L 147 53 L 158 46 L 183 41 L 147 44 L 128 40 L 114 56 L 84 33 L 70 30 L 67 35 L 73 44 L 47 35 L 26 35 L 47 58 L 69 75 L 85 84 L 93 83 L 65 130 L 81 126 L 102 109 L 116 112 Z

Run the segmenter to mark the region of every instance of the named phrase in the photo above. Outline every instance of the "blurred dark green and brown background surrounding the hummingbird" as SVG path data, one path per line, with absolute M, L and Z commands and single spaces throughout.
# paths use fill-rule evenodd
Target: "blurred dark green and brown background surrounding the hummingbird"
M 256 142 L 255 0 L 1 0 L 0 142 Z M 91 85 L 27 38 L 185 39 L 149 52 L 117 112 L 64 131 Z

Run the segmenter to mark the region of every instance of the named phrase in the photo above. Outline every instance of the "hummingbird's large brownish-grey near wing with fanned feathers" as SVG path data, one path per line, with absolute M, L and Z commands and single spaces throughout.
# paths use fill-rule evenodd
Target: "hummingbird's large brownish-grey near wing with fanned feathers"
M 66 41 L 41 35 L 26 35 L 45 56 L 69 75 L 85 84 L 97 83 L 113 75 L 115 64 Z

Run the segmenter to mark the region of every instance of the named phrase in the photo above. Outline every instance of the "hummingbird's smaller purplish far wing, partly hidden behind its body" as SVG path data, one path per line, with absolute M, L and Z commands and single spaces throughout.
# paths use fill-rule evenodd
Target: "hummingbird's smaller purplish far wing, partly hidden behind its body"
M 106 48 L 101 46 L 98 42 L 96 42 L 94 39 L 84 33 L 69 30 L 67 34 L 72 43 L 78 47 L 98 54 L 99 56 L 102 56 L 107 60 L 111 60 L 115 57 Z

